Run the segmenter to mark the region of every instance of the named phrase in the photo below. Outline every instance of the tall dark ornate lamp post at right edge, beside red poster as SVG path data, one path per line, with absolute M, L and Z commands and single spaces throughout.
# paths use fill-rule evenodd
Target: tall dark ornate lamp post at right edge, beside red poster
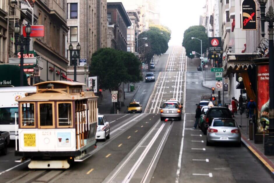
M 270 6 L 265 14 L 267 0 L 259 0 L 261 10 L 261 35 L 265 36 L 264 23 L 268 22 L 269 36 L 269 135 L 264 143 L 264 154 L 274 155 L 274 53 L 273 53 L 273 7 Z M 266 16 L 265 16 L 266 15 Z

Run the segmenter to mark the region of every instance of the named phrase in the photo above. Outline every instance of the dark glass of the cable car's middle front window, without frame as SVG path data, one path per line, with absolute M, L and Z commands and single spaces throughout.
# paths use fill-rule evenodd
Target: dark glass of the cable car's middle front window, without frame
M 53 126 L 53 103 L 40 103 L 39 112 L 40 112 L 40 126 Z

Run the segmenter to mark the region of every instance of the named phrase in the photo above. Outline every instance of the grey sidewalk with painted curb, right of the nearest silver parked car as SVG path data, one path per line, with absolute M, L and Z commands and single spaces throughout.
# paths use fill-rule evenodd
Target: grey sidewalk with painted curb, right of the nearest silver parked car
M 241 115 L 235 115 L 234 118 L 238 125 L 241 125 Z M 245 113 L 242 115 L 242 142 L 250 150 L 250 152 L 256 157 L 264 167 L 272 173 L 274 177 L 274 156 L 265 156 L 264 155 L 264 144 L 255 144 L 254 140 L 249 139 L 249 129 L 247 129 L 247 118 Z

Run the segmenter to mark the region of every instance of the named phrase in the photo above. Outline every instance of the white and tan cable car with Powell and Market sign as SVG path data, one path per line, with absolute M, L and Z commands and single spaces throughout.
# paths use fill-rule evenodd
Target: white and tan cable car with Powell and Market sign
M 16 144 L 15 156 L 22 157 L 17 162 L 30 159 L 31 169 L 66 169 L 88 156 L 96 145 L 98 97 L 83 92 L 84 85 L 45 81 L 34 85 L 35 94 L 17 100 L 19 149 Z

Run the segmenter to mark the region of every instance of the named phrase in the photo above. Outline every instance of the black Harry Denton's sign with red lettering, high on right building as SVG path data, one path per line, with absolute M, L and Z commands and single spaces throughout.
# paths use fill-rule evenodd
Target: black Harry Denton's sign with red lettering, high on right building
M 257 5 L 255 0 L 242 3 L 242 30 L 257 30 Z

